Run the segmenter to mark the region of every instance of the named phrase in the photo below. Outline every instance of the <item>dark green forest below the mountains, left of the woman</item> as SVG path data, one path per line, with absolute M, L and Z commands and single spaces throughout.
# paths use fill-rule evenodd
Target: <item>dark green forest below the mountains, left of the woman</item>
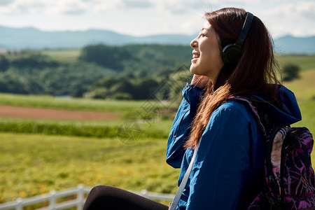
M 87 45 L 71 61 L 41 51 L 9 52 L 0 55 L 0 92 L 150 99 L 190 57 L 183 45 Z

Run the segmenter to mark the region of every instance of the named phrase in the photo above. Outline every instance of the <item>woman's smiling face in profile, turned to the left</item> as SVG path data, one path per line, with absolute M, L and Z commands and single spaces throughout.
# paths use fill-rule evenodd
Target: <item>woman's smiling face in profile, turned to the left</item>
M 190 46 L 194 48 L 190 72 L 207 76 L 214 82 L 223 67 L 223 60 L 218 36 L 208 21 L 204 22 L 200 34 L 190 43 Z

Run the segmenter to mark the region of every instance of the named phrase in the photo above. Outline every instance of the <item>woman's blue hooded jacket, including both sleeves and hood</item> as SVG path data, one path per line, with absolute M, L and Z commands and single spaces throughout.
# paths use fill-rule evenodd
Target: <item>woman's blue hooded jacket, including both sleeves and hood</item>
M 181 168 L 179 184 L 193 157 L 193 149 L 183 148 L 183 144 L 201 97 L 199 87 L 186 85 L 169 133 L 167 163 Z M 301 120 L 293 92 L 281 86 L 279 97 L 283 109 L 272 106 L 276 124 L 290 125 Z M 251 110 L 238 101 L 225 102 L 211 115 L 202 134 L 179 209 L 244 208 L 262 188 L 263 165 L 264 142 Z

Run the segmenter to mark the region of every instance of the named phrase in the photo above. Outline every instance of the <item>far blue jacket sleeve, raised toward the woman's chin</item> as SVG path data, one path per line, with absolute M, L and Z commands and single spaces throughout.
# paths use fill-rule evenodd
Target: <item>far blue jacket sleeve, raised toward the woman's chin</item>
M 166 160 L 167 163 L 174 168 L 181 167 L 181 162 L 185 153 L 183 144 L 185 144 L 187 140 L 190 123 L 195 117 L 201 97 L 202 89 L 200 87 L 190 85 L 189 83 L 184 87 L 183 100 L 179 105 L 167 141 Z

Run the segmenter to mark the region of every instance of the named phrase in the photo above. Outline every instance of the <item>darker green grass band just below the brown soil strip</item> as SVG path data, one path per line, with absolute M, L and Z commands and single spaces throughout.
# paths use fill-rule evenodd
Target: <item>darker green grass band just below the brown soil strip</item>
M 132 127 L 130 127 L 132 126 Z M 72 121 L 0 118 L 0 132 L 129 139 L 167 138 L 172 120 Z

